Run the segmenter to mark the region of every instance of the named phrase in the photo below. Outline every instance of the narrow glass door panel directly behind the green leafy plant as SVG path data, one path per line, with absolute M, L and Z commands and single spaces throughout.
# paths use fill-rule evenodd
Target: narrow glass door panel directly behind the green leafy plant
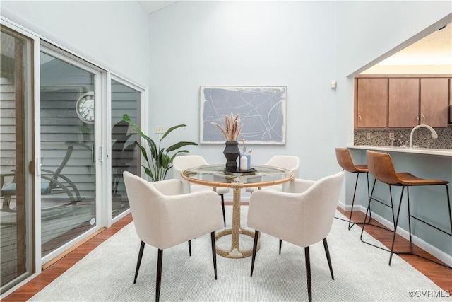
M 127 114 L 137 122 L 140 98 L 140 92 L 112 80 L 112 218 L 129 209 L 122 173 L 140 170 L 139 149 L 134 144 L 138 134 L 131 133 L 133 128 L 122 119 Z

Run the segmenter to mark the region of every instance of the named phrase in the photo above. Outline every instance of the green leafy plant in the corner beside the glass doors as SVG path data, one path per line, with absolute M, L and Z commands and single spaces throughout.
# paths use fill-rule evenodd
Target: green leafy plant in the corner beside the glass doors
M 167 172 L 172 168 L 172 161 L 178 153 L 189 153 L 188 150 L 179 150 L 180 148 L 182 148 L 183 146 L 198 146 L 198 144 L 194 143 L 193 141 L 179 141 L 178 143 L 167 147 L 167 149 L 161 146 L 162 140 L 165 139 L 165 137 L 167 137 L 169 133 L 179 127 L 186 127 L 186 124 L 178 124 L 176 126 L 170 127 L 158 141 L 157 146 L 157 144 L 155 144 L 155 142 L 150 139 L 150 137 L 148 137 L 141 131 L 140 127 L 138 127 L 138 124 L 130 119 L 129 115 L 123 115 L 123 120 L 124 122 L 130 124 L 133 128 L 135 128 L 136 132 L 138 132 L 138 134 L 140 134 L 140 136 L 143 137 L 143 139 L 145 139 L 146 143 L 148 144 L 150 156 L 148 156 L 148 151 L 145 146 L 141 145 L 138 141 L 135 142 L 138 148 L 140 148 L 141 155 L 143 155 L 145 163 L 147 164 L 147 166 L 143 165 L 145 173 L 149 175 L 152 181 L 165 179 Z M 169 152 L 172 151 L 175 151 L 175 153 L 170 156 Z

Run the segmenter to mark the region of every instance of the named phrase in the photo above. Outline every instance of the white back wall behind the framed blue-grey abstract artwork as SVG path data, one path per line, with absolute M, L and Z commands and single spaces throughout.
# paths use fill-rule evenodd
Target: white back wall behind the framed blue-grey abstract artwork
M 326 1 L 179 1 L 152 13 L 151 127 L 184 123 L 168 142 L 199 141 L 199 86 L 287 86 L 287 143 L 248 146 L 252 163 L 284 153 L 301 158 L 302 178 L 338 171 L 334 27 Z M 223 149 L 190 151 L 223 163 Z

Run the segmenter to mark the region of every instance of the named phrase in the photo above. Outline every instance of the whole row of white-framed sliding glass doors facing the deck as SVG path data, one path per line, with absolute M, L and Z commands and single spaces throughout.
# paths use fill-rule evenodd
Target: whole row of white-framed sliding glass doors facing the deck
M 3 295 L 127 214 L 141 156 L 123 116 L 140 124 L 145 90 L 1 21 Z

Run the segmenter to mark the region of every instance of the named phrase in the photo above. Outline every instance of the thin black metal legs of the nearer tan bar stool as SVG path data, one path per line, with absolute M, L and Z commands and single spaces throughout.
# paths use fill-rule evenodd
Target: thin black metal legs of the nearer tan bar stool
M 444 185 L 444 184 L 441 184 Z M 398 211 L 397 211 L 397 219 L 396 219 L 396 224 L 394 225 L 394 230 L 397 230 L 397 226 L 398 226 L 398 219 L 400 216 L 400 208 L 402 207 L 402 198 L 403 198 L 403 191 L 405 189 L 405 187 L 407 187 L 407 205 L 408 205 L 408 233 L 410 234 L 410 251 L 409 252 L 402 252 L 402 251 L 394 251 L 394 243 L 396 242 L 396 232 L 394 232 L 393 235 L 393 242 L 391 245 L 391 255 L 389 256 L 389 265 L 391 265 L 391 260 L 393 258 L 393 254 L 398 254 L 398 255 L 415 255 L 417 257 L 420 257 L 422 259 L 425 260 L 429 260 L 431 262 L 434 262 L 438 265 L 442 265 L 444 267 L 448 267 L 449 269 L 452 269 L 452 267 L 445 265 L 444 263 L 441 262 L 437 262 L 435 260 L 429 259 L 427 257 L 424 257 L 422 255 L 418 255 L 415 254 L 413 252 L 413 248 L 412 248 L 412 233 L 411 233 L 411 219 L 416 219 L 417 221 L 421 221 L 422 223 L 427 224 L 428 226 L 431 226 L 432 228 L 435 228 L 438 231 L 441 231 L 442 233 L 447 234 L 448 236 L 452 236 L 452 213 L 451 213 L 451 198 L 449 195 L 449 190 L 448 190 L 448 185 L 444 185 L 444 187 L 446 187 L 446 195 L 447 195 L 447 208 L 448 208 L 448 213 L 449 213 L 449 226 L 451 227 L 451 233 L 447 233 L 444 230 L 441 230 L 441 228 L 437 228 L 436 226 L 433 226 L 431 223 L 428 223 L 427 221 L 424 221 L 422 219 L 419 219 L 415 216 L 412 216 L 410 213 L 410 186 L 403 186 L 402 187 L 402 192 L 400 193 L 400 203 L 399 203 L 399 207 L 398 207 Z

